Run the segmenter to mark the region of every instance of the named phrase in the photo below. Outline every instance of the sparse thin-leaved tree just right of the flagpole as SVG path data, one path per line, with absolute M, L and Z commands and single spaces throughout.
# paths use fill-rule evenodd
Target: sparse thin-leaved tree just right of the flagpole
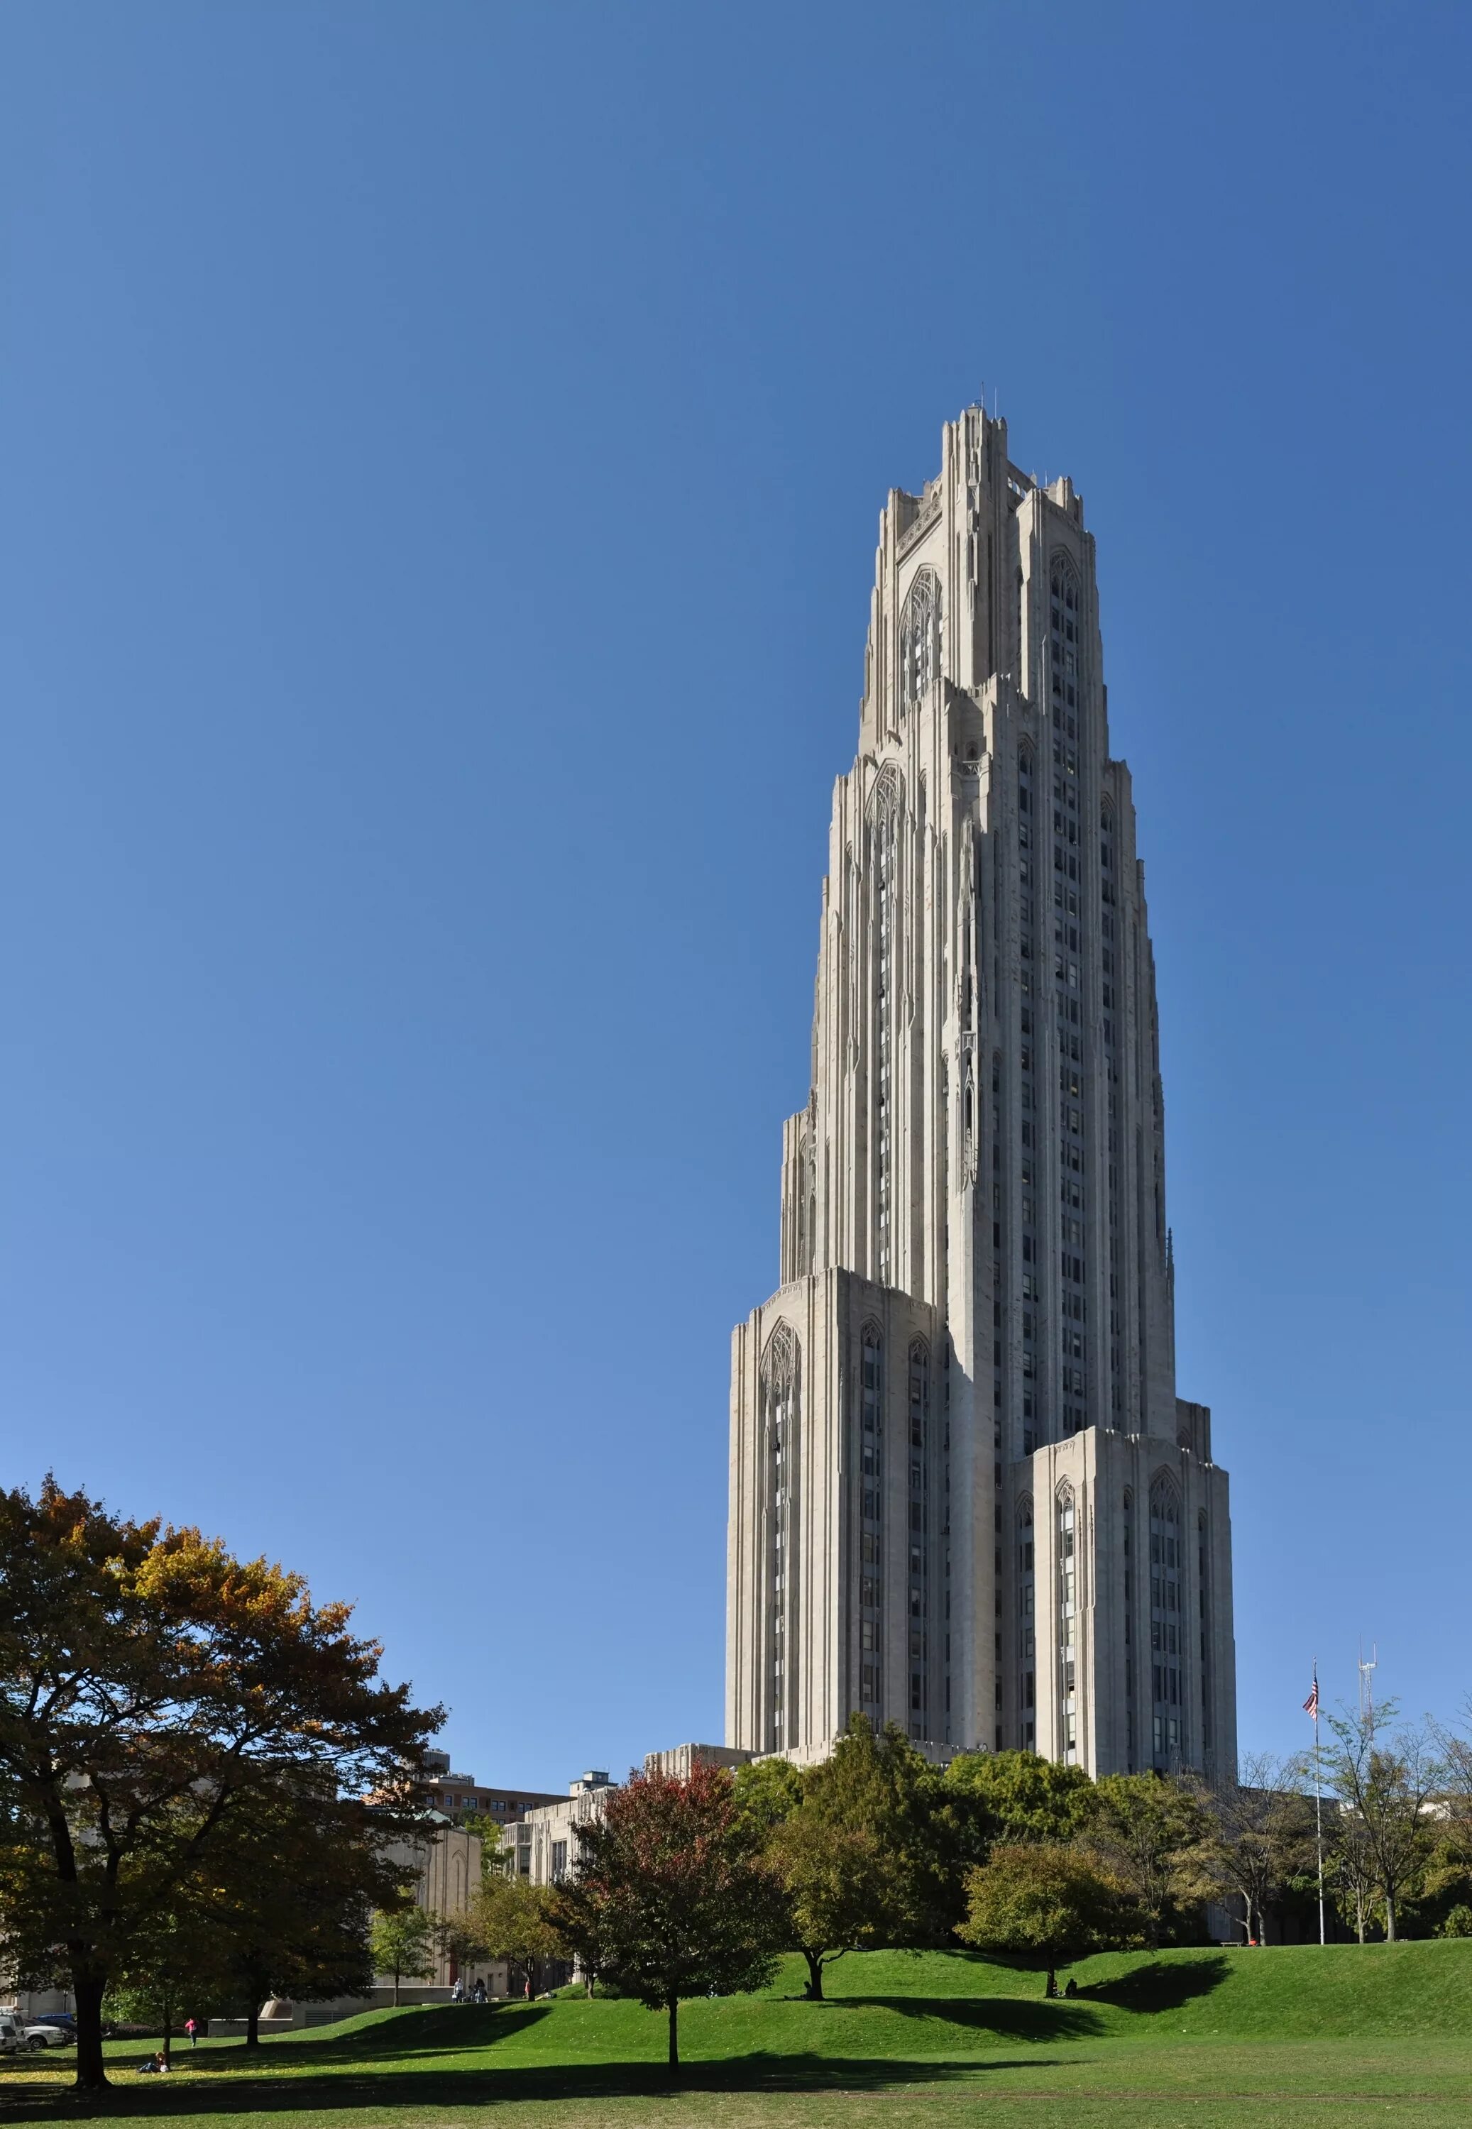
M 1449 1771 L 1429 1737 L 1397 1729 L 1395 1701 L 1368 1714 L 1329 1716 L 1329 1731 L 1334 1744 L 1325 1746 L 1323 1769 L 1340 1803 L 1340 1844 L 1357 1850 L 1357 1867 L 1378 1895 L 1393 1944 L 1400 1901 L 1432 1852 L 1434 1805 Z

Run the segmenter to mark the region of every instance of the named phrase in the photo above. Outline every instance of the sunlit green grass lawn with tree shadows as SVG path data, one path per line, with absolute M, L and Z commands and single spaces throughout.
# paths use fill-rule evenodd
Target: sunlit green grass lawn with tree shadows
M 684 2067 L 637 2003 L 558 1997 L 488 2010 L 369 2012 L 266 2042 L 177 2052 L 145 2080 L 109 2048 L 117 2091 L 70 2099 L 70 2054 L 6 2061 L 0 2129 L 107 2114 L 205 2129 L 839 2129 L 961 2123 L 1078 2129 L 1472 2125 L 1472 1942 L 1110 1954 L 1040 1976 L 965 1952 L 854 1952 L 831 2001 L 790 1961 L 763 1995 L 692 2001 Z

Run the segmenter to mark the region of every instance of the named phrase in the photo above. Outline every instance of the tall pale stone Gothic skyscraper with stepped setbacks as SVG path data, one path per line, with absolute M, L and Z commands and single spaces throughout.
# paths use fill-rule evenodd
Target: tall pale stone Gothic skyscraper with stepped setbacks
M 974 407 L 880 519 L 782 1286 L 733 1341 L 729 1744 L 816 1754 L 861 1710 L 1236 1771 L 1227 1473 L 1172 1286 L 1093 537 Z

